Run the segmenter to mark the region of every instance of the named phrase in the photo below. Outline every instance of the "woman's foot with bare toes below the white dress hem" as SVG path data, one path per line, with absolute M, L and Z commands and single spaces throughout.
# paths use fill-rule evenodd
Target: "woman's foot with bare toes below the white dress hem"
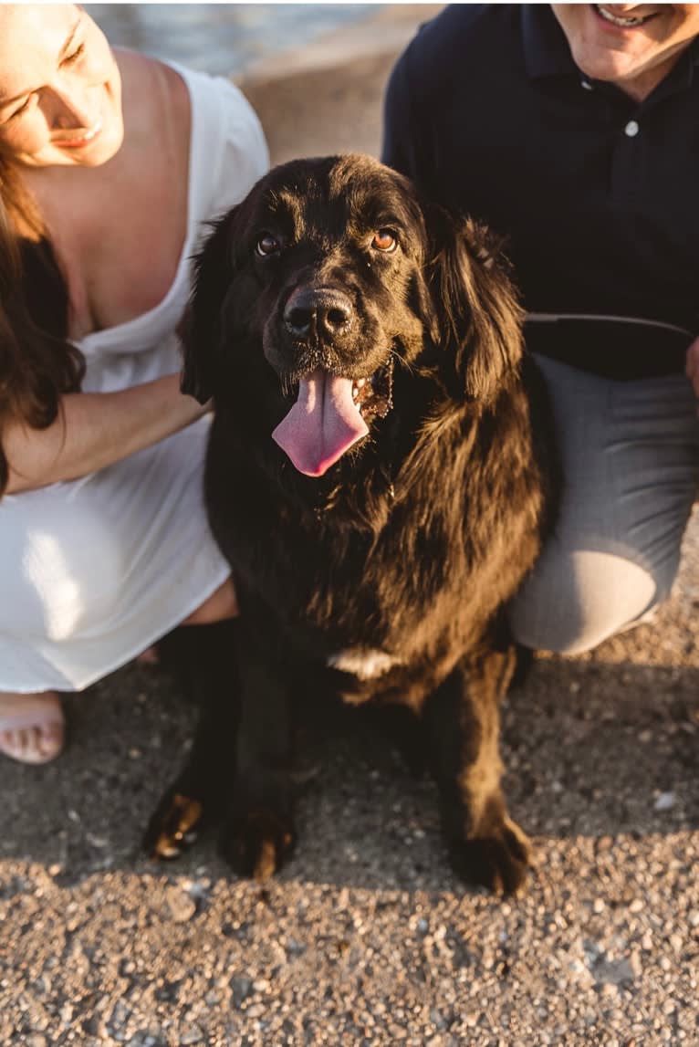
M 48 763 L 64 739 L 65 718 L 53 691 L 0 694 L 0 753 L 21 763 Z

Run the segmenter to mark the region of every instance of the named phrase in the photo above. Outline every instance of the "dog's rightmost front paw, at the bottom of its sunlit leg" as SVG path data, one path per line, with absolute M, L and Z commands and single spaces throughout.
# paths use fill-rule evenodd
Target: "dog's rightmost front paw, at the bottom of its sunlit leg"
M 514 894 L 529 864 L 529 844 L 519 826 L 506 816 L 482 834 L 452 841 L 455 871 L 470 884 L 502 894 Z

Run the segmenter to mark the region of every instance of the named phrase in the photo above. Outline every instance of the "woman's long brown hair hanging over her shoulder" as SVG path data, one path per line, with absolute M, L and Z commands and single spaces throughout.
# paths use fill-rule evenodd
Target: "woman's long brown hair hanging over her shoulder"
M 80 388 L 83 354 L 67 340 L 68 295 L 44 223 L 20 173 L 0 155 L 0 497 L 9 422 L 44 429 Z

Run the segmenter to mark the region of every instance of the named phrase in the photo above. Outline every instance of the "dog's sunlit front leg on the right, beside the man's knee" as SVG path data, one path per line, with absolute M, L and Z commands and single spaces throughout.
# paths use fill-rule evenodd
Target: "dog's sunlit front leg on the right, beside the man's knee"
M 511 673 L 509 652 L 487 651 L 457 666 L 425 711 L 454 868 L 470 883 L 505 894 L 521 884 L 528 854 L 500 787 L 498 706 Z

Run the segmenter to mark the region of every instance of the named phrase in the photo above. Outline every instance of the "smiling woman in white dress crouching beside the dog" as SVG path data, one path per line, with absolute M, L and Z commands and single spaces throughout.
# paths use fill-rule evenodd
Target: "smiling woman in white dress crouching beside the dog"
M 0 4 L 0 751 L 63 745 L 82 690 L 235 614 L 177 325 L 206 222 L 267 170 L 227 81 L 112 51 L 80 7 Z

